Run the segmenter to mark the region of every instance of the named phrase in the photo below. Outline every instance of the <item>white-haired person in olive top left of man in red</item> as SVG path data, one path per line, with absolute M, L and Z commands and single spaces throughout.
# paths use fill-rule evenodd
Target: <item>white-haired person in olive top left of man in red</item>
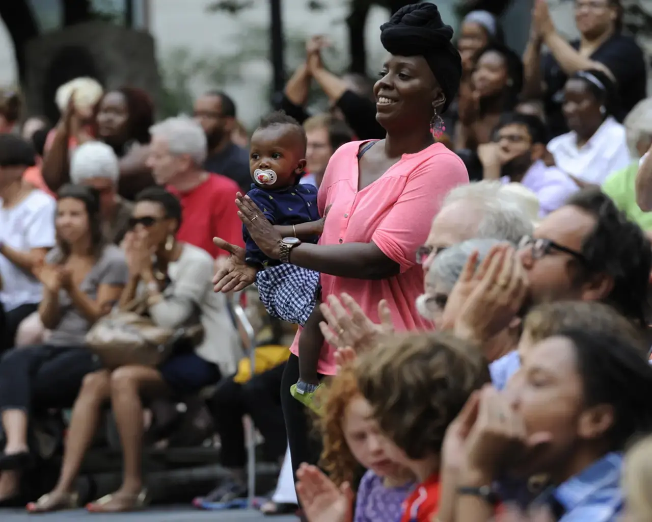
M 102 234 L 119 244 L 128 228 L 134 205 L 117 193 L 120 166 L 113 149 L 103 142 L 86 142 L 70 157 L 70 183 L 95 189 L 100 197 Z

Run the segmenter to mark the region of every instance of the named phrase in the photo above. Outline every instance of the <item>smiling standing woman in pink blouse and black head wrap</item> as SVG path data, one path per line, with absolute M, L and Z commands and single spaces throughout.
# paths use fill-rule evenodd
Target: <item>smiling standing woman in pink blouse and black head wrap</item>
M 415 252 L 428 236 L 443 197 L 468 183 L 460 158 L 434 142 L 434 134 L 443 131 L 440 114 L 455 96 L 462 74 L 452 35 L 432 3 L 401 8 L 381 26 L 381 42 L 391 55 L 374 95 L 376 119 L 387 135 L 344 144 L 331 157 L 319 187 L 319 212 L 330 210 L 318 245 L 283 239 L 253 202 L 238 200 L 241 219 L 263 253 L 320 272 L 325 303 L 331 294 L 348 292 L 377 323 L 378 302 L 385 299 L 398 330 L 428 328 L 415 309 L 423 288 Z M 244 264 L 243 249 L 221 239 L 216 243 L 231 253 L 216 273 L 216 290 L 239 290 L 253 283 L 256 269 Z M 329 333 L 319 356 L 321 376 L 335 373 L 334 347 L 344 342 L 339 338 L 342 331 Z M 311 335 L 310 328 L 299 335 L 302 344 L 308 344 L 303 336 Z M 299 335 L 293 354 L 298 352 Z M 321 341 L 316 342 L 319 350 Z M 295 470 L 319 457 L 318 448 L 308 443 L 304 407 L 289 393 L 298 377 L 298 358 L 291 355 L 281 391 Z

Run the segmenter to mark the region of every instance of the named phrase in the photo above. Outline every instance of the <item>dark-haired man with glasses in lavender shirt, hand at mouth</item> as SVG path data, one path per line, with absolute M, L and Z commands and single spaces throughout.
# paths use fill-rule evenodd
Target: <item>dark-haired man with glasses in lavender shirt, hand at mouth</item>
M 484 179 L 521 183 L 539 199 L 539 216 L 561 207 L 578 190 L 571 177 L 543 161 L 547 129 L 533 115 L 504 114 L 494 131 L 494 142 L 478 147 Z

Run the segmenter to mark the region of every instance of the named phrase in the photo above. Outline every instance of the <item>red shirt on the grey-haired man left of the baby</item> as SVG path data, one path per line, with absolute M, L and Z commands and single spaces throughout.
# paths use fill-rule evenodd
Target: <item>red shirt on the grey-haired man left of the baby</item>
M 219 174 L 209 178 L 190 192 L 179 192 L 172 187 L 168 190 L 181 200 L 181 228 L 177 239 L 207 251 L 214 258 L 228 256 L 228 252 L 218 249 L 213 238 L 219 238 L 244 247 L 243 224 L 237 215 L 235 194 L 240 190 L 235 181 Z

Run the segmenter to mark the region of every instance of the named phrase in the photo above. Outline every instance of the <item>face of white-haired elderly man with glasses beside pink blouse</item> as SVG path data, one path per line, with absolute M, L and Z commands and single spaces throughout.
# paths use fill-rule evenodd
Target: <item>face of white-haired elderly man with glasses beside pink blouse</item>
M 443 207 L 432 221 L 428 239 L 420 249 L 419 261 L 424 272 L 428 272 L 437 253 L 456 243 L 475 238 L 480 219 L 480 213 L 469 209 L 462 201 Z

